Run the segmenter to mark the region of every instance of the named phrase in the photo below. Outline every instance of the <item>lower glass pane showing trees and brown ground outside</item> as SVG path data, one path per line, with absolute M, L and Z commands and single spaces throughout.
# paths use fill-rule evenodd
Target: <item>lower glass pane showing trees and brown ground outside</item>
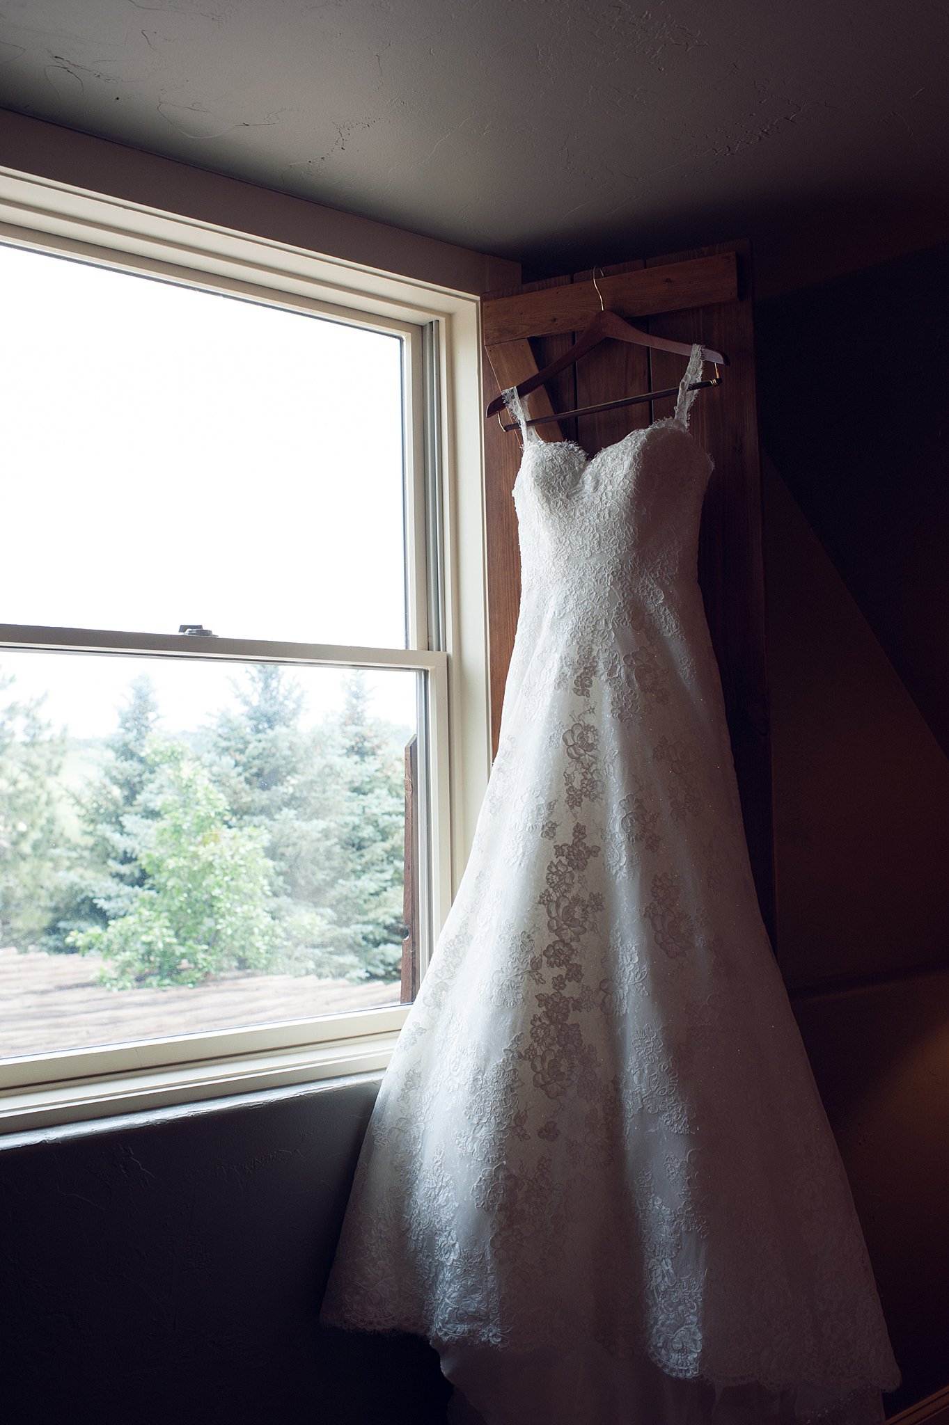
M 0 651 L 0 1054 L 399 1003 L 420 677 Z

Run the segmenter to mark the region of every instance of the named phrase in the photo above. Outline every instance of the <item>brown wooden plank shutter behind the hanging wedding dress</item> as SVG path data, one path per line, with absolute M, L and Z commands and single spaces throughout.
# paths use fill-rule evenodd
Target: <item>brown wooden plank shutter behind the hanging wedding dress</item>
M 606 305 L 638 326 L 701 341 L 730 358 L 721 386 L 704 390 L 691 429 L 711 453 L 698 577 L 721 670 L 738 789 L 761 911 L 774 940 L 771 754 L 765 680 L 761 475 L 754 326 L 747 242 L 718 244 L 597 269 Z M 482 299 L 486 399 L 566 351 L 600 309 L 590 272 L 529 282 Z M 604 342 L 530 398 L 531 415 L 661 390 L 681 379 L 681 358 Z M 577 440 L 587 453 L 673 413 L 673 398 L 539 426 L 546 440 Z M 520 601 L 517 524 L 510 492 L 520 442 L 496 419 L 486 428 L 487 603 L 494 747 Z

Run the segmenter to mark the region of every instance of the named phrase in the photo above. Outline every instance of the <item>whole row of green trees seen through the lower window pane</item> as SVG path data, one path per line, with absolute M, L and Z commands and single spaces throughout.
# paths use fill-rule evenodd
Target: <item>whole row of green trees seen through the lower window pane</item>
M 71 836 L 56 817 L 61 740 L 36 707 L 4 710 L 0 832 L 27 828 L 9 855 L 0 845 L 6 943 L 97 952 L 118 989 L 234 969 L 398 975 L 402 747 L 372 717 L 363 675 L 316 727 L 278 665 L 251 665 L 234 693 L 204 731 L 171 738 L 135 680 L 115 732 L 87 750 L 95 771 Z

